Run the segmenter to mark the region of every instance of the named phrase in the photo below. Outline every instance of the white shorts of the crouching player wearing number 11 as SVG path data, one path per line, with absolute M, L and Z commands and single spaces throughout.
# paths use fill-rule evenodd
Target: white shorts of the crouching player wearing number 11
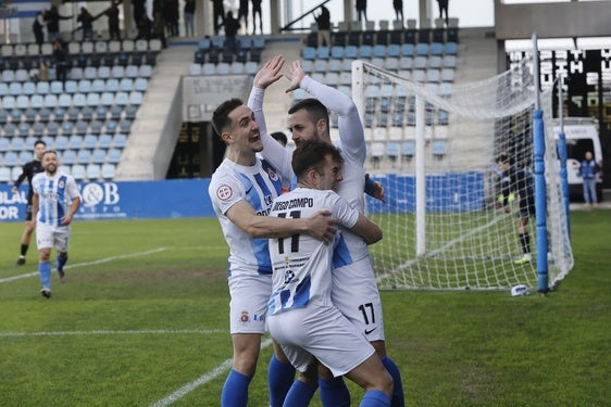
M 375 349 L 336 307 L 310 304 L 270 316 L 270 333 L 301 372 L 316 358 L 338 377 L 357 368 Z

